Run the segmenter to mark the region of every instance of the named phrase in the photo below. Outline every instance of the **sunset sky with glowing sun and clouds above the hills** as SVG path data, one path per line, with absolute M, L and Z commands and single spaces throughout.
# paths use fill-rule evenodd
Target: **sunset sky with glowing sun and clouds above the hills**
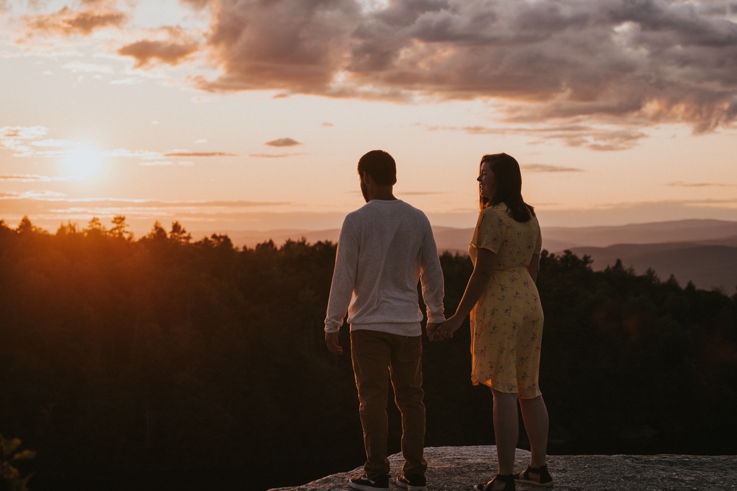
M 472 227 L 737 220 L 737 1 L 0 0 L 0 219 L 324 230 L 357 161 Z

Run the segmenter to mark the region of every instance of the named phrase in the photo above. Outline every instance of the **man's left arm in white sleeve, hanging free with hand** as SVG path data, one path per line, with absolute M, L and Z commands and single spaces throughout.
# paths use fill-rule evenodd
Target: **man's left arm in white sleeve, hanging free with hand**
M 357 235 L 352 223 L 346 217 L 343 227 L 340 228 L 325 317 L 325 343 L 332 353 L 338 355 L 343 353 L 343 348 L 338 345 L 338 331 L 343 325 L 343 318 L 346 317 L 346 311 L 351 303 L 357 268 Z

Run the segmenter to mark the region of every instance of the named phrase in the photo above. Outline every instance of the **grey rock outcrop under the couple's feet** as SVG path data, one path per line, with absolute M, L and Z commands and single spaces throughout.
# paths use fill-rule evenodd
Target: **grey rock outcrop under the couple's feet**
M 528 451 L 517 449 L 516 470 L 525 469 Z M 433 447 L 425 449 L 427 489 L 430 491 L 472 490 L 474 484 L 488 481 L 496 473 L 497 448 Z M 392 476 L 402 469 L 402 454 L 389 458 Z M 548 467 L 557 491 L 737 491 L 737 456 L 691 455 L 552 455 Z M 361 468 L 333 474 L 298 487 L 270 491 L 349 490 L 347 480 Z M 402 488 L 395 484 L 392 490 Z M 517 484 L 518 490 L 542 488 Z

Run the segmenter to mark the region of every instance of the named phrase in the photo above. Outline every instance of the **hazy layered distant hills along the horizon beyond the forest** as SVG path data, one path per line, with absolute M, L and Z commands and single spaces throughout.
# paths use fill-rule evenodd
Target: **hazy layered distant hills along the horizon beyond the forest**
M 304 237 L 308 243 L 338 241 L 340 230 L 234 230 L 227 232 L 238 246 L 254 247 L 273 240 Z M 438 249 L 466 254 L 472 228 L 433 227 Z M 195 239 L 208 233 L 193 232 Z M 737 286 L 737 222 L 727 220 L 677 220 L 612 227 L 542 227 L 542 247 L 553 253 L 571 250 L 590 255 L 594 269 L 604 269 L 619 258 L 626 267 L 643 273 L 654 269 L 663 280 L 672 274 L 685 285 L 688 280 L 702 289 L 721 288 L 733 294 Z

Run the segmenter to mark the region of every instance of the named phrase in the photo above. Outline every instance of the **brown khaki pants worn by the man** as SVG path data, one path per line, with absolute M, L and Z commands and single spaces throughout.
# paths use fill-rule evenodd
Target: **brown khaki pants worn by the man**
M 352 331 L 351 355 L 356 376 L 359 413 L 366 447 L 366 476 L 374 480 L 389 473 L 387 458 L 388 375 L 394 402 L 402 413 L 402 455 L 405 475 L 425 476 L 425 404 L 422 398 L 421 336 L 399 336 L 381 331 Z

